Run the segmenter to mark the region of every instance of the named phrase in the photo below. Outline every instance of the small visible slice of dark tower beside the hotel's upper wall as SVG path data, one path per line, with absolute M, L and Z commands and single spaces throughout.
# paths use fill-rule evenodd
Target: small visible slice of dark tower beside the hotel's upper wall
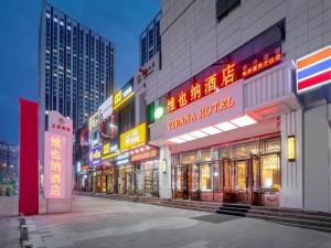
M 160 11 L 139 36 L 140 67 L 143 66 L 146 62 L 152 58 L 154 54 L 161 50 L 161 17 L 162 12 Z

